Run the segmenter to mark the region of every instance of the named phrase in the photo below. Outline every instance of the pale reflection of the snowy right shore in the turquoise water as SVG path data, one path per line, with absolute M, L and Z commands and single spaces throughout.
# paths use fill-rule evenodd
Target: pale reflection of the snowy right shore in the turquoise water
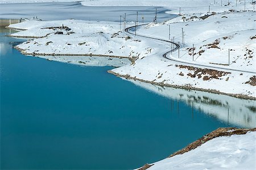
M 187 103 L 187 105 L 192 107 L 191 116 L 193 118 L 196 118 L 196 115 L 193 114 L 193 110 L 197 109 L 201 110 L 204 114 L 216 117 L 220 121 L 232 125 L 247 128 L 256 127 L 256 101 L 254 100 L 240 99 L 197 90 L 161 87 L 139 81 L 131 82 L 160 96 L 170 98 L 172 109 L 174 108 L 175 100 Z M 176 105 L 178 105 L 178 103 L 179 102 L 177 102 Z

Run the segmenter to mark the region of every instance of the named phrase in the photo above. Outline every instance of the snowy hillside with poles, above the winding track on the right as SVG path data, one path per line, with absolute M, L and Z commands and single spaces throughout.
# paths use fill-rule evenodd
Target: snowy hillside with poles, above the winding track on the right
M 140 35 L 168 39 L 170 26 L 170 39 L 181 44 L 180 55 L 175 52 L 170 57 L 256 72 L 256 59 L 253 57 L 256 49 L 254 16 L 254 12 L 188 14 L 163 24 L 150 24 L 137 32 Z

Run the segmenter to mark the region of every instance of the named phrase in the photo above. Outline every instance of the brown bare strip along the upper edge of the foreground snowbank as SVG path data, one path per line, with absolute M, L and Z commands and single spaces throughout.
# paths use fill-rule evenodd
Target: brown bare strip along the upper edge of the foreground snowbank
M 209 140 L 212 140 L 214 138 L 220 137 L 220 136 L 243 135 L 249 131 L 256 131 L 256 128 L 250 128 L 250 129 L 234 128 L 234 127 L 217 128 L 217 130 L 214 130 L 213 132 L 210 132 L 209 134 L 204 135 L 202 138 L 196 140 L 195 142 L 189 144 L 187 147 L 175 152 L 174 154 L 172 154 L 168 157 L 172 157 L 175 155 L 181 155 L 181 154 L 184 154 L 185 152 L 194 150 L 195 148 L 201 146 L 203 143 L 205 143 Z

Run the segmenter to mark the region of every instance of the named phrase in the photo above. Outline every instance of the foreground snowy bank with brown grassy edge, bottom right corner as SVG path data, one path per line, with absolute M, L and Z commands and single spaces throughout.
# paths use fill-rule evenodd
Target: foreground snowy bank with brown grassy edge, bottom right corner
M 253 144 L 255 144 L 255 136 L 256 128 L 218 128 L 166 159 L 145 164 L 137 170 L 254 169 L 255 147 Z M 246 141 L 246 139 L 250 140 Z M 245 146 L 247 151 L 242 148 Z M 250 152 L 250 154 L 246 152 Z M 232 156 L 223 160 L 226 155 Z

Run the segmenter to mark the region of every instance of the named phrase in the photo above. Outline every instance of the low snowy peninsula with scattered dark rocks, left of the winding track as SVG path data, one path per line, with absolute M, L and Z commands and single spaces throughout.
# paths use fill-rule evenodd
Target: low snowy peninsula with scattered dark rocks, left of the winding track
M 152 47 L 154 42 L 130 38 L 118 31 L 118 24 L 113 22 L 26 20 L 10 27 L 25 30 L 11 36 L 33 38 L 17 46 L 22 53 L 44 58 L 52 55 L 51 60 L 61 61 L 62 58 L 66 62 L 75 62 L 72 57 L 67 59 L 57 55 L 100 55 L 133 60 L 159 51 L 158 47 Z M 86 59 L 80 57 L 76 63 L 86 63 Z

